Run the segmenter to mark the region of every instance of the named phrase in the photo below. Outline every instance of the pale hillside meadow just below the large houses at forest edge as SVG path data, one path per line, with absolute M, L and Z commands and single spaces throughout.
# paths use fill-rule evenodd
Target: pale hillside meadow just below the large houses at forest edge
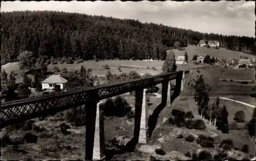
M 238 51 L 232 51 L 232 50 L 227 50 L 225 48 L 219 48 L 219 49 L 214 49 L 214 48 L 207 48 L 207 47 L 199 47 L 199 46 L 188 46 L 185 48 L 185 50 L 178 50 L 174 49 L 173 50 L 175 53 L 176 58 L 178 56 L 184 56 L 185 51 L 187 51 L 188 59 L 191 61 L 194 55 L 204 55 L 208 54 L 210 57 L 217 57 L 217 58 L 236 58 L 240 59 L 240 56 L 242 57 L 248 57 L 251 58 L 252 61 L 255 60 L 255 56 L 249 55 L 247 53 L 243 52 L 238 52 Z M 167 51 L 169 52 L 169 50 Z

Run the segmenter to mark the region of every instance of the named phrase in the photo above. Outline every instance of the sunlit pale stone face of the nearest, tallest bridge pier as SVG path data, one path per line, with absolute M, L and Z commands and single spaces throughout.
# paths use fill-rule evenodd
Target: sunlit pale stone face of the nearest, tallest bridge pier
M 103 102 L 97 103 L 94 144 L 93 144 L 93 160 L 101 160 L 105 157 L 105 138 L 104 138 L 104 114 L 101 109 Z

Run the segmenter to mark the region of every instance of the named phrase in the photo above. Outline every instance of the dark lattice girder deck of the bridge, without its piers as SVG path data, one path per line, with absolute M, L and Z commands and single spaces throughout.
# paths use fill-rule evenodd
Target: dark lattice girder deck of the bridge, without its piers
M 71 109 L 75 106 L 86 104 L 88 100 L 99 101 L 126 92 L 168 82 L 172 79 L 176 79 L 177 76 L 182 76 L 183 72 L 199 68 L 205 67 L 190 68 L 168 74 L 158 74 L 151 77 L 138 78 L 133 81 L 124 81 L 110 85 L 77 89 L 47 96 L 5 102 L 1 105 L 0 109 L 2 128 L 20 121 L 26 121 L 32 118 L 46 116 L 50 113 Z

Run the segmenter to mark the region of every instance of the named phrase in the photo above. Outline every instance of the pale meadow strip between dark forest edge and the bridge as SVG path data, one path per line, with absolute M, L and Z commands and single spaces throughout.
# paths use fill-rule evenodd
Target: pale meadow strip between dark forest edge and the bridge
M 130 71 L 137 71 L 140 74 L 150 73 L 152 75 L 160 74 L 162 72 L 162 63 L 163 61 L 117 61 L 117 60 L 109 60 L 109 61 L 84 61 L 79 64 L 49 64 L 48 71 L 54 71 L 54 67 L 57 66 L 59 70 L 63 68 L 67 68 L 67 70 L 80 70 L 81 66 L 86 68 L 92 68 L 92 73 L 98 76 L 104 76 L 108 71 L 111 71 L 113 74 L 120 74 L 122 72 L 129 73 Z M 110 69 L 103 69 L 102 66 L 108 64 Z M 119 66 L 136 66 L 136 68 L 132 67 L 120 67 L 121 72 L 118 70 Z M 201 65 L 180 65 L 178 69 L 188 69 L 200 67 Z M 147 67 L 149 67 L 147 69 Z M 155 67 L 156 70 L 153 70 L 152 67 Z M 2 66 L 3 69 L 6 70 L 7 73 L 10 73 L 12 70 L 16 75 L 16 83 L 21 83 L 23 78 L 19 75 L 20 70 L 18 67 L 18 62 L 8 63 Z M 31 77 L 31 75 L 28 75 Z

